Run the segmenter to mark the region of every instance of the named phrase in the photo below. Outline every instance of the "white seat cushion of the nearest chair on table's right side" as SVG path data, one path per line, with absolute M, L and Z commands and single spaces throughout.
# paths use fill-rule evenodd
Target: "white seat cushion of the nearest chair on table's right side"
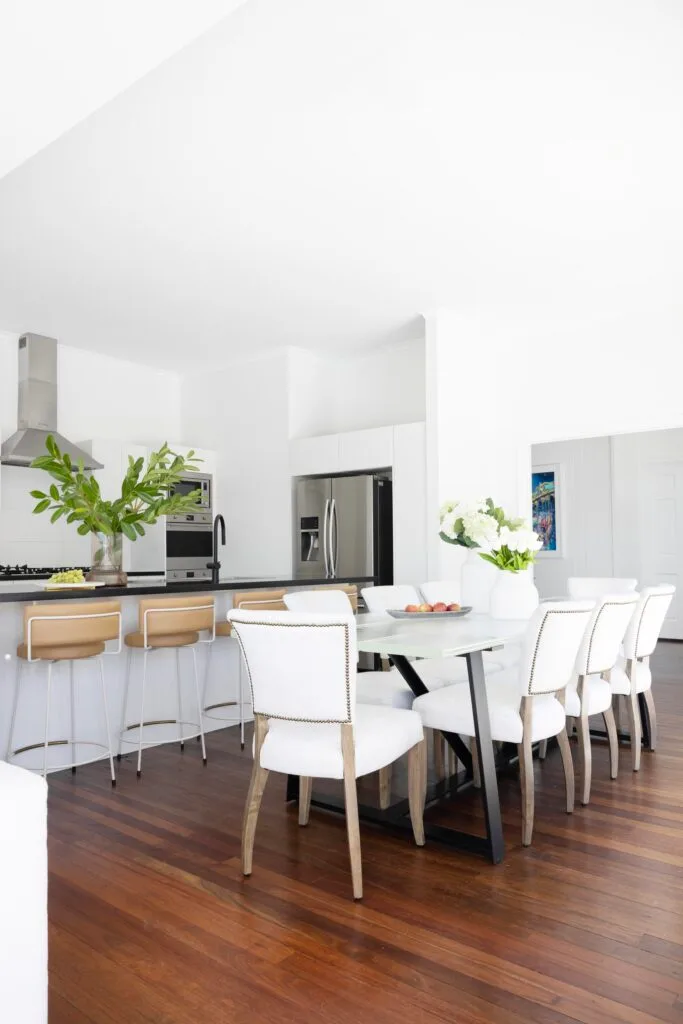
M 492 738 L 498 742 L 520 743 L 523 728 L 516 678 L 499 682 L 495 677 L 486 686 L 486 697 Z M 553 693 L 542 693 L 532 699 L 531 740 L 556 736 L 565 727 L 564 708 Z M 419 712 L 427 728 L 474 735 L 472 701 L 467 686 L 446 686 L 433 693 L 424 693 L 415 698 L 413 709 Z

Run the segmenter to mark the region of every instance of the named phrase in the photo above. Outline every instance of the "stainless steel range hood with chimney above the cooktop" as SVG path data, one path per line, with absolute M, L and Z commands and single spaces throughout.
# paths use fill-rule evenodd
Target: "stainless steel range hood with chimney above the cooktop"
M 83 460 L 85 469 L 101 469 L 102 464 L 72 444 L 57 431 L 57 343 L 40 334 L 19 338 L 18 430 L 4 441 L 0 463 L 30 466 L 45 455 L 45 441 L 52 434 L 72 462 Z

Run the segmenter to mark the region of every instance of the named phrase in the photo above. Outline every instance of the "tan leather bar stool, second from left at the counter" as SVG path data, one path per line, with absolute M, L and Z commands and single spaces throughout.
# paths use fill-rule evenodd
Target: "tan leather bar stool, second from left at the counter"
M 128 647 L 128 665 L 126 669 L 126 690 L 121 715 L 121 730 L 119 732 L 119 753 L 121 760 L 122 744 L 137 744 L 137 776 L 142 774 L 142 748 L 156 746 L 160 740 L 143 741 L 143 730 L 147 726 L 177 725 L 180 750 L 183 751 L 186 739 L 197 736 L 202 741 L 202 760 L 207 763 L 204 726 L 202 724 L 202 701 L 200 697 L 199 676 L 197 673 L 197 645 L 213 644 L 216 636 L 216 606 L 210 594 L 183 595 L 181 597 L 148 598 L 138 605 L 139 629 L 135 633 L 127 633 L 125 643 Z M 200 633 L 208 634 L 200 639 Z M 182 711 L 182 690 L 180 682 L 180 649 L 186 647 L 193 653 L 193 669 L 195 673 L 195 692 L 197 694 L 198 722 L 186 721 Z M 126 724 L 128 714 L 128 694 L 130 689 L 130 670 L 132 653 L 142 651 L 142 683 L 140 687 L 140 719 L 130 725 Z M 175 650 L 175 678 L 177 687 L 177 714 L 175 718 L 163 718 L 145 721 L 144 691 L 147 677 L 147 658 L 150 654 L 160 650 Z M 209 647 L 211 650 L 211 647 Z M 197 731 L 185 734 L 183 727 Z M 137 739 L 129 739 L 127 732 L 136 729 Z

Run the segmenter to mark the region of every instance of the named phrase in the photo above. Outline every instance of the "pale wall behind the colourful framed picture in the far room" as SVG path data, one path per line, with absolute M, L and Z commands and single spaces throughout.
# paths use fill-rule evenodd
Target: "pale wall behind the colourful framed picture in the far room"
M 611 438 L 535 444 L 531 469 L 546 467 L 559 471 L 560 550 L 557 555 L 540 554 L 533 567 L 543 598 L 566 594 L 571 575 L 614 574 Z

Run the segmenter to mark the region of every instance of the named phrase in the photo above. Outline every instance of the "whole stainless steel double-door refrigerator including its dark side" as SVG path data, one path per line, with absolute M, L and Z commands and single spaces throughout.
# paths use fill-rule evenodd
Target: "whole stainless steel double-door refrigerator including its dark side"
M 295 481 L 294 577 L 393 583 L 391 475 Z

